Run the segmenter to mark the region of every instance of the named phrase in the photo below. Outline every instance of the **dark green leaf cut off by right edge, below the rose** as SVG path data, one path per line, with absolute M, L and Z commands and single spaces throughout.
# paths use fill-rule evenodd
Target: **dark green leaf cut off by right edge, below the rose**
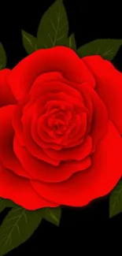
M 122 213 L 122 180 L 116 185 L 109 198 L 109 217 Z

